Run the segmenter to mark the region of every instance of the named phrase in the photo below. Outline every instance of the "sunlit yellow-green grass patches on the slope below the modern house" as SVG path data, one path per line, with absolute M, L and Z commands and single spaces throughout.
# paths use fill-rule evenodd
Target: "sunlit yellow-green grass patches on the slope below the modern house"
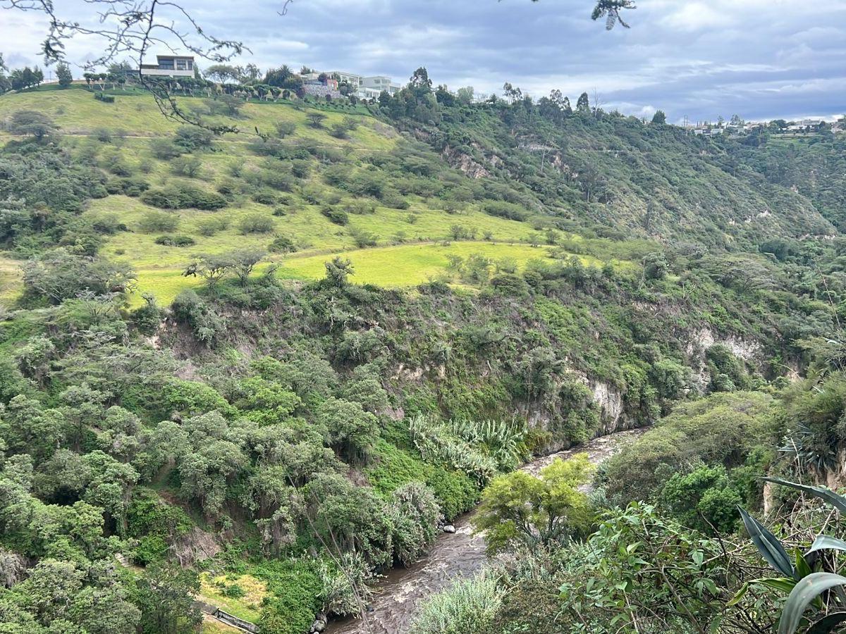
M 184 99 L 184 105 L 200 103 L 199 99 Z M 173 181 L 192 181 L 199 185 L 215 185 L 228 177 L 230 166 L 243 162 L 246 169 L 267 165 L 267 160 L 250 152 L 248 144 L 254 135 L 228 134 L 214 142 L 214 150 L 198 154 L 203 163 L 199 178 L 174 178 L 170 166 L 165 161 L 158 161 L 151 154 L 149 137 L 173 134 L 178 125 L 168 121 L 158 112 L 150 97 L 143 95 L 121 95 L 118 91 L 113 104 L 96 101 L 85 90 L 65 90 L 50 92 L 28 92 L 7 95 L 0 98 L 0 118 L 8 118 L 12 113 L 33 109 L 46 112 L 61 126 L 63 145 L 72 151 L 90 150 L 96 145 L 99 160 L 104 163 L 109 156 L 119 156 L 133 173 L 145 178 L 153 187 Z M 338 123 L 351 112 L 332 112 L 322 108 L 327 115 L 326 125 Z M 360 111 L 354 111 L 360 112 Z M 306 112 L 288 104 L 249 103 L 244 106 L 243 115 L 237 121 L 240 128 L 251 130 L 258 127 L 270 131 L 273 123 L 289 121 L 297 128 L 294 139 L 308 139 L 312 143 L 325 145 L 327 148 L 342 150 L 355 156 L 390 152 L 398 143 L 398 134 L 393 128 L 376 121 L 367 115 L 355 115 L 360 125 L 354 129 L 349 139 L 335 139 L 325 129 L 310 128 L 306 125 Z M 210 119 L 211 121 L 222 121 Z M 231 122 L 229 122 L 231 123 Z M 111 143 L 99 143 L 88 135 L 96 133 L 97 128 L 108 128 L 115 134 Z M 8 138 L 8 136 L 7 136 Z M 2 137 L 0 137 L 2 139 Z M 148 173 L 141 173 L 146 169 Z M 320 175 L 312 173 L 307 186 L 327 189 L 322 184 Z M 283 264 L 281 275 L 297 278 L 314 278 L 322 275 L 323 262 L 330 254 L 343 254 L 353 260 L 357 268 L 356 281 L 381 284 L 388 287 L 415 285 L 437 276 L 447 264 L 447 254 L 466 256 L 482 253 L 491 258 L 514 258 L 519 265 L 531 258 L 543 257 L 545 249 L 532 249 L 525 244 L 533 233 L 532 227 L 525 222 L 512 221 L 488 216 L 474 205 L 469 205 L 460 214 L 450 214 L 437 209 L 438 200 L 420 199 L 409 195 L 408 210 L 389 209 L 377 206 L 373 214 L 351 216 L 348 227 L 338 227 L 321 215 L 319 207 L 308 205 L 298 195 L 292 196 L 299 208 L 287 216 L 274 217 L 274 232 L 288 235 L 299 244 L 295 254 L 272 255 L 271 260 Z M 352 201 L 353 197 L 343 196 Z M 155 239 L 159 232 L 140 232 L 138 222 L 150 207 L 139 199 L 123 195 L 111 195 L 105 199 L 91 201 L 86 215 L 115 214 L 129 227 L 129 232 L 119 232 L 102 247 L 102 254 L 114 260 L 127 260 L 139 272 L 139 287 L 136 302 L 140 302 L 140 292 L 153 292 L 160 302 L 168 303 L 184 287 L 195 285 L 195 279 L 186 279 L 180 275 L 192 254 L 221 253 L 236 248 L 265 248 L 272 241 L 271 234 L 252 234 L 244 236 L 237 228 L 239 218 L 247 214 L 259 213 L 270 216 L 272 208 L 255 203 L 250 199 L 239 200 L 225 210 L 207 212 L 200 210 L 181 210 L 180 224 L 175 233 L 188 234 L 195 239 L 195 246 L 179 249 L 157 245 Z M 225 215 L 230 220 L 228 229 L 211 237 L 203 237 L 197 232 L 197 223 L 212 214 Z M 448 247 L 437 246 L 437 241 L 448 238 L 449 227 L 460 223 L 481 235 L 489 232 L 495 243 L 461 243 Z M 379 249 L 356 249 L 349 229 L 354 227 L 375 234 L 379 244 L 390 243 L 398 233 L 404 234 L 408 244 L 385 246 Z M 523 242 L 523 244 L 513 244 Z M 17 276 L 14 275 L 14 261 L 3 260 L 0 267 L 0 284 L 3 290 L 0 298 L 14 297 Z

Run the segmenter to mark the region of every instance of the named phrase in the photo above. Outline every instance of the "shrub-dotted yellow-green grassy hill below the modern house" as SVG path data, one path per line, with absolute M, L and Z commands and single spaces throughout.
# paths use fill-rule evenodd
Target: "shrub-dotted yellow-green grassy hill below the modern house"
M 196 102 L 188 107 L 204 107 L 199 98 L 184 101 Z M 359 267 L 362 281 L 387 286 L 414 285 L 437 276 L 448 255 L 469 250 L 460 244 L 434 246 L 456 238 L 484 239 L 489 245 L 480 246 L 481 251 L 520 263 L 544 254 L 530 247 L 536 233 L 530 222 L 492 217 L 481 210 L 486 200 L 482 183 L 454 172 L 434 152 L 403 139 L 361 110 L 312 108 L 310 112 L 326 117 L 320 128 L 314 128 L 303 108 L 245 104 L 234 122 L 227 119 L 244 134 L 204 136 L 191 153 L 184 148 L 156 149 L 157 141 L 169 139 L 179 127 L 162 118 L 148 96 L 118 95 L 113 104 L 104 104 L 85 90 L 9 95 L 0 100 L 0 117 L 30 108 L 46 112 L 58 123 L 69 161 L 98 168 L 105 191 L 85 205 L 78 222 L 90 226 L 106 221 L 125 227 L 102 238 L 100 253 L 131 263 L 139 273 L 140 292 L 154 292 L 165 303 L 180 287 L 190 286 L 192 280 L 180 278 L 190 254 L 218 254 L 236 247 L 268 249 L 280 237 L 283 241 L 269 249 L 277 252 L 268 260 L 285 263 L 283 276 L 319 276 L 320 254 L 343 252 L 354 263 L 361 259 L 365 264 Z M 344 122 L 354 129 L 343 130 L 342 139 L 332 136 L 332 127 Z M 291 124 L 294 131 L 267 142 L 252 133 L 259 128 L 277 135 L 277 123 Z M 175 156 L 178 153 L 182 156 Z M 184 162 L 196 166 L 187 171 L 174 168 Z M 144 219 L 153 216 L 156 207 L 145 205 L 143 196 L 116 192 L 127 187 L 125 183 L 135 185 L 137 194 L 185 186 L 224 191 L 226 199 L 216 210 L 169 210 L 173 221 L 157 225 L 154 217 L 152 226 L 145 228 Z M 26 195 L 36 203 L 38 196 L 50 194 Z M 327 217 L 332 210 L 338 212 L 335 221 Z M 217 227 L 213 219 L 222 217 L 225 221 Z M 259 226 L 242 227 L 244 219 L 256 218 Z M 157 244 L 165 233 L 187 235 L 193 244 L 188 248 Z M 25 236 L 7 234 L 6 239 L 8 246 L 25 252 Z M 361 242 L 396 248 L 365 252 L 356 249 Z M 490 245 L 495 242 L 508 244 Z

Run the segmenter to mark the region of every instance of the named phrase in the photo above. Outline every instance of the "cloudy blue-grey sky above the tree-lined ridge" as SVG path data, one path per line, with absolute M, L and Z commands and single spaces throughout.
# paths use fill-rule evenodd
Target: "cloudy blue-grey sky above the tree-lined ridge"
M 638 0 L 630 29 L 590 19 L 594 0 L 183 0 L 206 32 L 250 48 L 236 63 L 387 74 L 426 66 L 436 84 L 541 97 L 582 92 L 602 107 L 670 122 L 834 117 L 846 112 L 846 0 Z M 91 4 L 58 0 L 91 22 Z M 3 6 L 3 3 L 0 3 Z M 179 16 L 174 16 L 179 18 Z M 179 21 L 177 22 L 179 25 Z M 40 63 L 46 21 L 0 10 L 8 66 Z M 102 41 L 69 43 L 68 59 Z M 167 51 L 161 51 L 167 52 Z M 201 63 L 201 67 L 202 67 Z M 77 71 L 81 73 L 81 71 Z

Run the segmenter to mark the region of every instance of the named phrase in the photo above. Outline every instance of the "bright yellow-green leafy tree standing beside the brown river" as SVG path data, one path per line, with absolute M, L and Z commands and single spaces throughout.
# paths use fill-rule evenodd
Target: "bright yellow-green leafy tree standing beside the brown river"
M 590 473 L 591 463 L 580 454 L 552 462 L 537 478 L 523 471 L 493 478 L 473 517 L 475 531 L 486 533 L 492 553 L 584 535 L 591 525 L 591 508 L 579 487 Z

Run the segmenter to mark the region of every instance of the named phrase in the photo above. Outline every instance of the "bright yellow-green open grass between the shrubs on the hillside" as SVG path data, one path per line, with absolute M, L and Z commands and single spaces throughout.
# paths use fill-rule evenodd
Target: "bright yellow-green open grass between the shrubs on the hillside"
M 114 173 L 114 166 L 119 163 L 132 178 L 146 181 L 153 189 L 183 183 L 201 189 L 217 189 L 233 180 L 239 182 L 250 176 L 290 169 L 290 161 L 256 155 L 251 147 L 258 139 L 255 134 L 226 134 L 213 140 L 210 149 L 191 155 L 201 161 L 200 172 L 194 178 L 176 175 L 173 163 L 157 159 L 151 144 L 153 138 L 172 136 L 179 128 L 177 123 L 162 116 L 151 96 L 135 91 L 110 92 L 116 95 L 116 101 L 111 104 L 96 101 L 91 92 L 79 87 L 8 94 L 0 97 L 0 118 L 8 118 L 20 110 L 46 112 L 60 126 L 60 143 L 72 155 L 96 161 L 106 173 Z M 202 106 L 204 100 L 186 97 L 179 102 L 180 106 L 190 108 Z M 325 128 L 307 124 L 307 113 L 315 109 L 327 116 Z M 351 117 L 358 125 L 349 132 L 349 138 L 337 139 L 328 134 L 326 127 Z M 294 189 L 279 193 L 287 200 L 285 206 L 262 204 L 250 195 L 238 194 L 222 210 L 165 212 L 178 219 L 178 226 L 167 232 L 142 230 L 142 220 L 154 209 L 138 198 L 109 195 L 91 200 L 83 212 L 84 218 L 110 217 L 126 227 L 125 231 L 107 236 L 100 253 L 135 267 L 138 272 L 137 290 L 132 298 L 135 304 L 143 301 L 143 292 L 151 292 L 160 303 L 167 304 L 184 288 L 199 286 L 200 280 L 182 276 L 185 266 L 197 254 L 267 249 L 277 237 L 289 238 L 297 248 L 290 254 L 268 254 L 268 262 L 280 265 L 282 277 L 319 278 L 324 274 L 324 263 L 338 254 L 352 260 L 353 281 L 385 287 L 415 286 L 442 277 L 448 255 L 482 254 L 492 260 L 512 259 L 519 266 L 533 258 L 547 256 L 547 249 L 529 246 L 530 238 L 537 233 L 536 227 L 525 221 L 490 216 L 474 202 L 464 203 L 456 209 L 456 205 L 446 205 L 437 197 L 406 194 L 403 198 L 409 208 L 398 210 L 382 205 L 378 199 L 365 197 L 364 200 L 370 201 L 371 213 L 365 210 L 365 213 L 349 214 L 349 222 L 343 226 L 329 221 L 321 213 L 324 205 L 315 204 L 315 195 L 347 208 L 360 204 L 362 197 L 324 182 L 322 172 L 327 163 L 338 159 L 321 161 L 323 150 L 318 150 L 315 156 L 314 148 L 333 151 L 337 156 L 346 157 L 343 161 L 351 170 L 367 172 L 373 169 L 367 157 L 391 156 L 398 144 L 404 142 L 395 129 L 371 117 L 365 108 L 333 112 L 332 107 L 325 104 L 295 106 L 287 102 L 250 102 L 244 104 L 241 116 L 235 120 L 207 120 L 209 123 L 235 123 L 247 133 L 255 128 L 271 131 L 277 122 L 294 123 L 294 134 L 285 142 L 294 146 L 309 145 L 308 172 L 297 179 Z M 103 128 L 111 138 L 102 138 Z M 0 133 L 0 144 L 9 139 L 8 134 Z M 431 156 L 431 160 L 438 160 L 436 155 Z M 272 229 L 244 234 L 239 222 L 251 215 L 269 218 Z M 213 235 L 203 235 L 201 225 L 211 218 L 225 219 L 228 226 Z M 457 225 L 468 235 L 475 236 L 475 240 L 443 245 L 450 239 L 452 227 Z M 357 248 L 357 232 L 370 234 L 376 246 Z M 194 244 L 182 248 L 157 244 L 156 239 L 162 233 L 188 236 Z M 485 238 L 484 241 L 481 238 Z M 569 238 L 578 239 L 576 236 Z M 585 264 L 602 264 L 589 257 L 583 260 Z M 18 268 L 18 260 L 0 257 L 0 301 L 10 303 L 19 293 Z

